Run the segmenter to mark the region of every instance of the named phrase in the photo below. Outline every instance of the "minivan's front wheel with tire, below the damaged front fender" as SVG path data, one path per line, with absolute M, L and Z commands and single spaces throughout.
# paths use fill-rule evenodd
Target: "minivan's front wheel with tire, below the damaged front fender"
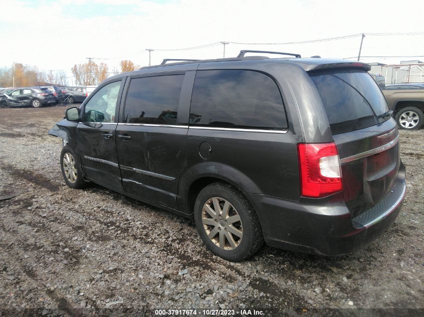
M 87 182 L 82 178 L 78 156 L 69 145 L 64 146 L 60 153 L 60 168 L 66 185 L 74 189 L 87 186 Z

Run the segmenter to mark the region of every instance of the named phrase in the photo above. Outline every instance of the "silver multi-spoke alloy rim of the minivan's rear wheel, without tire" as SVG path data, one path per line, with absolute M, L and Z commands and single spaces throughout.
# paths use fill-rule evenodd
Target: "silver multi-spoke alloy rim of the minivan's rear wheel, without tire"
M 210 198 L 203 205 L 202 223 L 207 236 L 216 246 L 233 250 L 243 238 L 243 226 L 237 210 L 225 199 Z

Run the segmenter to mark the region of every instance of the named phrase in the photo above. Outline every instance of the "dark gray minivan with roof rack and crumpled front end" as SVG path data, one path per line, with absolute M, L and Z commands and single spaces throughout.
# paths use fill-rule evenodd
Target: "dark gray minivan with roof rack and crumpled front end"
M 104 81 L 49 131 L 63 139 L 65 182 L 192 217 L 231 261 L 263 242 L 324 255 L 363 247 L 405 195 L 396 122 L 370 67 L 246 52 Z

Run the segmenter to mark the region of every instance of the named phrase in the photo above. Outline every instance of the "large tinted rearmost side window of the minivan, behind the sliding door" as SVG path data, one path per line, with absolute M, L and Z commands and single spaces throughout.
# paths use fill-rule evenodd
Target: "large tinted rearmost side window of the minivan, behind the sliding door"
M 190 125 L 232 128 L 287 128 L 276 83 L 247 70 L 197 71 Z

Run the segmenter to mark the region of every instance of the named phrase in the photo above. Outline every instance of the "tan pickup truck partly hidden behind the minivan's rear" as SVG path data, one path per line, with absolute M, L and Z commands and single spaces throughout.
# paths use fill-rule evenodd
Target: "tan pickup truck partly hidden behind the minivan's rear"
M 424 122 L 424 87 L 419 84 L 390 85 L 382 89 L 397 125 L 404 130 L 418 130 Z

